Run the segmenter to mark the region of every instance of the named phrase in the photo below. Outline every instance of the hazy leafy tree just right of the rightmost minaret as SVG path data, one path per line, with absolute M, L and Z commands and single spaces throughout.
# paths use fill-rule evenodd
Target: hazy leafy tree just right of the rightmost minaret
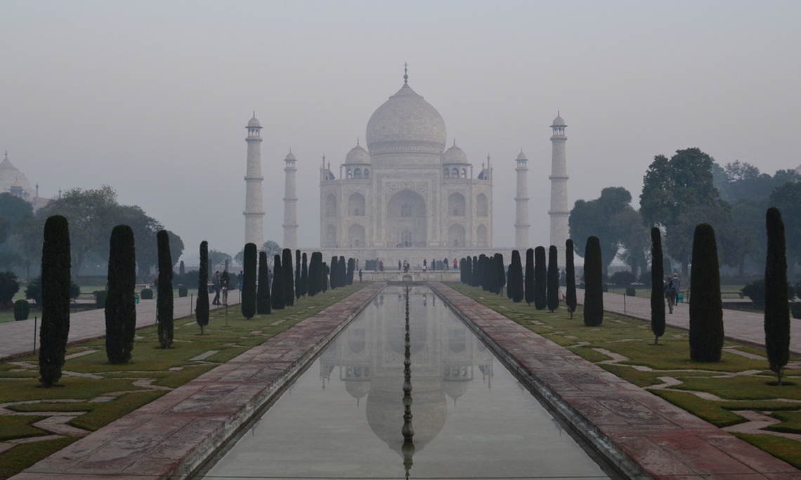
M 576 253 L 581 253 L 586 249 L 583 240 L 589 236 L 597 236 L 601 244 L 602 258 L 606 259 L 603 264 L 603 275 L 606 278 L 609 264 L 618 255 L 618 249 L 622 244 L 622 235 L 618 231 L 621 225 L 625 227 L 626 217 L 613 223 L 613 219 L 618 214 L 630 211 L 631 194 L 626 188 L 607 187 L 601 191 L 601 196 L 596 200 L 577 200 L 573 210 L 570 212 L 568 223 L 570 224 L 570 238 L 574 240 Z M 616 228 L 618 227 L 618 228 Z

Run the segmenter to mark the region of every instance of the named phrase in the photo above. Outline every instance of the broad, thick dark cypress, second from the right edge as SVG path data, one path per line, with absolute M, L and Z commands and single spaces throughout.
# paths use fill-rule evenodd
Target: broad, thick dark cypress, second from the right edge
M 718 244 L 710 224 L 698 224 L 695 227 L 692 261 L 690 358 L 694 361 L 720 361 L 723 349 L 723 305 L 720 299 Z

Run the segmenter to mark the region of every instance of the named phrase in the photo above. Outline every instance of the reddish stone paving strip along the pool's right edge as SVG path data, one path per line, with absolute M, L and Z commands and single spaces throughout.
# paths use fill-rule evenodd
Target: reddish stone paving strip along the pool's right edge
M 472 323 L 510 369 L 630 477 L 801 478 L 801 470 L 615 377 L 453 288 L 441 283 L 431 286 L 457 315 Z

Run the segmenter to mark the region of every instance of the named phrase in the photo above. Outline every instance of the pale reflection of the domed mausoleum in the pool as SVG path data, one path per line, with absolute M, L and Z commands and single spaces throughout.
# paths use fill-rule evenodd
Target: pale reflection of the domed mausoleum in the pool
M 445 426 L 448 401 L 456 403 L 471 387 L 492 385 L 493 355 L 428 287 L 412 288 L 410 298 L 414 446 L 419 451 Z M 365 310 L 337 337 L 320 357 L 320 377 L 324 383 L 344 382 L 350 396 L 366 405 L 372 432 L 400 454 L 405 325 L 397 314 L 405 308 L 405 296 L 386 293 L 374 301 L 376 306 L 389 302 L 397 308 Z

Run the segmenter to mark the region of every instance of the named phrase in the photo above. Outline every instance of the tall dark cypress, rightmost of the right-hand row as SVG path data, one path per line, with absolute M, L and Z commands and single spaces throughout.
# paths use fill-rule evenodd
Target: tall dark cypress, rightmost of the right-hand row
M 784 222 L 778 208 L 767 209 L 765 260 L 765 350 L 771 371 L 782 385 L 782 371 L 790 360 L 790 308 L 787 305 L 787 247 Z

